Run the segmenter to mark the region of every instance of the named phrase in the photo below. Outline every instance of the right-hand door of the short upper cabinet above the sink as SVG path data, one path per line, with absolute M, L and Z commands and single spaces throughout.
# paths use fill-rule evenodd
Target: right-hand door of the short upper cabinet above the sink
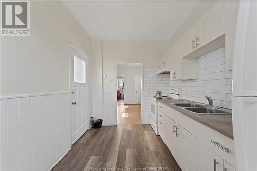
M 200 48 L 225 33 L 225 4 L 219 1 L 198 23 Z

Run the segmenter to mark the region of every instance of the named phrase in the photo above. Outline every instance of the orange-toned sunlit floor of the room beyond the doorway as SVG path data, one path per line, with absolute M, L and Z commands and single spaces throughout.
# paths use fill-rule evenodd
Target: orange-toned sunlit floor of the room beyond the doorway
M 141 104 L 125 105 L 124 99 L 117 100 L 117 123 L 140 124 Z

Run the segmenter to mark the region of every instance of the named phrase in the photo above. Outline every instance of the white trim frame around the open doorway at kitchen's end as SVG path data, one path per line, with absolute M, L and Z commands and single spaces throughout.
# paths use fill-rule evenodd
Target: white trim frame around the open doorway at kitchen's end
M 144 125 L 144 65 L 143 60 L 115 60 L 114 61 L 114 90 L 117 91 L 117 64 L 141 63 L 141 124 Z M 115 96 L 115 104 L 117 105 L 117 96 Z M 115 123 L 117 125 L 117 106 L 115 106 Z

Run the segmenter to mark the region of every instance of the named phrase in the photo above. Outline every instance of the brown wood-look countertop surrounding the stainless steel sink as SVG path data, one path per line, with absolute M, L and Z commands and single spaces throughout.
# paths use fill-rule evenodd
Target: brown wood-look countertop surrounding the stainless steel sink
M 182 113 L 183 115 L 186 115 L 187 117 L 201 123 L 204 124 L 205 126 L 208 126 L 209 128 L 212 128 L 214 130 L 216 130 L 217 132 L 231 138 L 234 139 L 233 137 L 233 125 L 232 125 L 232 115 L 211 115 L 211 114 L 207 114 L 207 115 L 198 115 L 195 113 L 192 113 L 186 109 L 180 108 L 178 106 L 175 106 L 171 103 L 185 103 L 185 102 L 189 102 L 189 103 L 198 103 L 198 102 L 194 102 L 194 101 L 190 101 L 190 100 L 186 100 L 186 99 L 157 99 L 158 102 L 169 106 L 171 108 L 173 108 L 174 110 L 179 111 L 180 113 Z

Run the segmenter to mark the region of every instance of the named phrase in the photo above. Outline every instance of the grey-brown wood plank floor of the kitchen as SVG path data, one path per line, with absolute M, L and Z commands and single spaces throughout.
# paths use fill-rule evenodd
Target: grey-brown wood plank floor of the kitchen
M 52 170 L 145 167 L 181 170 L 150 125 L 127 124 L 90 129 Z

